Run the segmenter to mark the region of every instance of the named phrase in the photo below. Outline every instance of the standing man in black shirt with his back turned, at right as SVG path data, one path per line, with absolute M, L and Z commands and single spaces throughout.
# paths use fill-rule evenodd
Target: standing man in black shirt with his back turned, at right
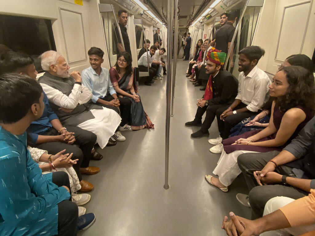
M 226 24 L 221 23 L 222 25 L 220 29 L 218 29 L 215 32 L 215 35 L 213 36 L 213 41 L 211 41 L 211 45 L 221 50 L 222 53 L 228 53 L 230 47 L 234 48 L 234 44 L 231 46 L 232 37 L 235 31 L 235 27 L 233 26 L 234 22 L 237 19 L 237 12 L 236 11 L 230 11 L 229 13 L 225 12 L 221 14 L 221 18 L 227 17 Z M 224 19 L 223 19 L 224 22 Z M 215 40 L 215 41 L 214 41 Z M 233 62 L 233 52 L 230 53 L 229 56 L 229 67 L 233 68 L 234 62 Z

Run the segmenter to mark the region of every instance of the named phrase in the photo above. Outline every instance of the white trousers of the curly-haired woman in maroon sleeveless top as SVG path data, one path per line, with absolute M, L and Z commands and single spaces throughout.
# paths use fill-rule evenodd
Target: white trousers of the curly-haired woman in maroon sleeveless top
M 221 157 L 218 161 L 218 165 L 215 167 L 213 173 L 219 176 L 220 182 L 228 187 L 238 177 L 242 171 L 238 167 L 237 158 L 243 153 L 249 153 L 252 151 L 237 150 L 227 154 L 224 150 L 222 151 Z

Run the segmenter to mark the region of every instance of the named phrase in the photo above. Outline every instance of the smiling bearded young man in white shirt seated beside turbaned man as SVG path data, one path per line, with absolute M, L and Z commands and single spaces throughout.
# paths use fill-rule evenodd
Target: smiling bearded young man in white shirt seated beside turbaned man
M 210 149 L 213 153 L 223 150 L 222 139 L 231 134 L 230 130 L 243 119 L 258 114 L 258 111 L 269 98 L 271 81 L 268 75 L 257 67 L 259 59 L 265 50 L 259 46 L 249 46 L 238 52 L 238 95 L 230 106 L 216 111 L 220 137 L 209 139 L 215 146 Z

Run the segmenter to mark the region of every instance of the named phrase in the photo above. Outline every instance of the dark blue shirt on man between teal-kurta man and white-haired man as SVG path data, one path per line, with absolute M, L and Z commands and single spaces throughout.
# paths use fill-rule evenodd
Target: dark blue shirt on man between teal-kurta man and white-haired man
M 49 105 L 47 95 L 43 92 L 43 102 L 45 104 L 43 115 L 36 121 L 33 121 L 28 127 L 27 132 L 34 143 L 37 142 L 38 135 L 49 132 L 53 127 L 50 121 L 59 119 Z

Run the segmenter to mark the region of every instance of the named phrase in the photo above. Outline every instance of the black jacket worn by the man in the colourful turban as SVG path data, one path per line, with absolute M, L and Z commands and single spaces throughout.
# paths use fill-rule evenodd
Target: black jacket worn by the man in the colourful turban
M 220 70 L 212 79 L 213 97 L 209 105 L 230 104 L 238 93 L 238 80 L 227 70 Z

